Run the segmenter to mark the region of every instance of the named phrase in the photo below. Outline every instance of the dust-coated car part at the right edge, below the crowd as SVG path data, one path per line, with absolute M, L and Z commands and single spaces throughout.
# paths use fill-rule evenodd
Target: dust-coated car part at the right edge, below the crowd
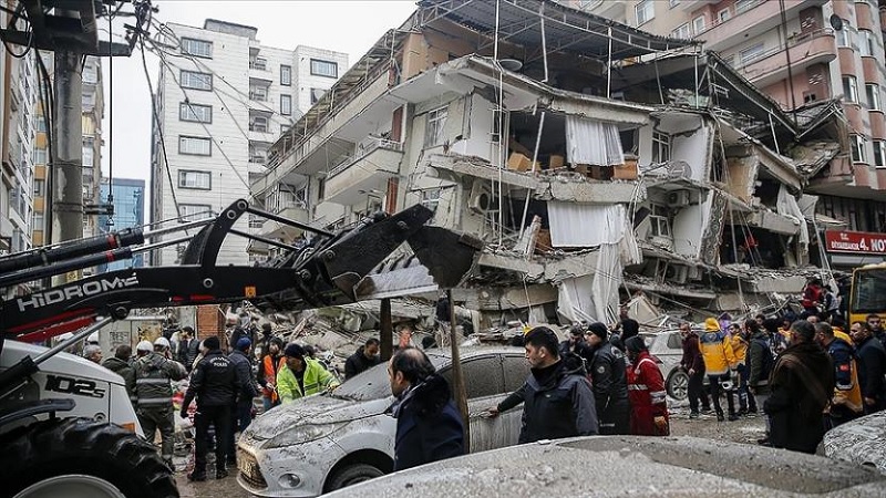
M 874 467 L 886 474 L 886 411 L 834 427 L 824 435 L 822 447 L 828 458 Z

